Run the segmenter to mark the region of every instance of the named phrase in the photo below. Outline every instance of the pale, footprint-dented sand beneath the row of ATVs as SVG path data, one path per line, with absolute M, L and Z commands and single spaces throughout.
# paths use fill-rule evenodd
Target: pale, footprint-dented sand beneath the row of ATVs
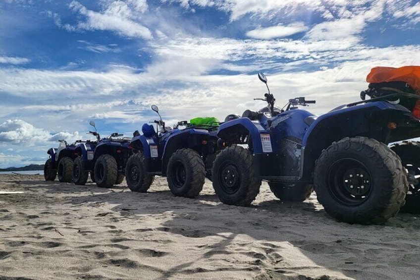
M 329 217 L 315 193 L 251 207 L 196 199 L 166 178 L 148 193 L 0 175 L 0 279 L 419 279 L 420 216 L 385 225 Z

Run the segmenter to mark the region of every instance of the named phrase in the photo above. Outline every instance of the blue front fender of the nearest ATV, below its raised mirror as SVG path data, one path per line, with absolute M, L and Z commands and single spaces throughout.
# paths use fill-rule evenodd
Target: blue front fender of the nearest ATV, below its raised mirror
M 268 134 L 261 124 L 253 122 L 247 117 L 230 120 L 219 126 L 217 136 L 229 144 L 246 144 L 240 138 L 251 136 L 254 154 L 263 154 L 262 134 Z M 243 139 L 243 138 L 242 138 Z

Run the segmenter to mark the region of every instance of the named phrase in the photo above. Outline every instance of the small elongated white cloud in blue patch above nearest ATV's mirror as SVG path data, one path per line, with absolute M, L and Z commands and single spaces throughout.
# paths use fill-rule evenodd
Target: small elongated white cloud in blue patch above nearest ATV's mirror
M 248 31 L 246 35 L 255 39 L 270 40 L 274 38 L 288 37 L 296 33 L 304 32 L 306 30 L 308 30 L 308 27 L 306 27 L 303 22 L 296 22 L 287 26 L 278 25 L 254 29 Z

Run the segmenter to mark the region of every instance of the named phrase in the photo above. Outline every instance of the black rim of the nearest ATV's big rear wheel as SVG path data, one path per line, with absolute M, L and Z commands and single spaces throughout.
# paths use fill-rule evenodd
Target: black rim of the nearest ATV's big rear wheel
M 340 159 L 328 170 L 327 187 L 336 201 L 347 206 L 363 204 L 372 192 L 368 168 L 355 159 Z

